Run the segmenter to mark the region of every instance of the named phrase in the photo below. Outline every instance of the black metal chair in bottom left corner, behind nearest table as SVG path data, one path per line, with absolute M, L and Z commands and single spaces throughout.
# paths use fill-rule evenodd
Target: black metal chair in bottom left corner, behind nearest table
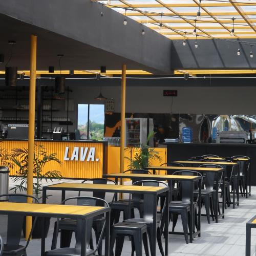
M 35 201 L 35 203 L 39 203 L 37 198 L 33 196 L 24 195 L 24 194 L 2 194 L 0 195 L 0 198 L 1 197 L 8 197 L 8 202 L 12 202 L 12 203 L 26 203 L 28 198 L 32 198 Z M 33 222 L 32 229 L 25 246 L 19 244 L 24 220 L 25 220 L 24 216 L 8 215 L 6 244 L 2 244 L 2 241 L 1 241 L 4 256 L 5 255 L 15 255 L 15 256 L 27 255 L 26 249 L 29 245 L 37 218 L 35 218 Z

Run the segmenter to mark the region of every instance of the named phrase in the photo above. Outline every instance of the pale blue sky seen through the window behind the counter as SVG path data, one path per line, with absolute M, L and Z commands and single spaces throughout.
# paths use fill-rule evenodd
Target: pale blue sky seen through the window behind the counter
M 78 125 L 86 124 L 88 104 L 78 104 Z M 104 104 L 90 104 L 90 120 L 104 124 Z

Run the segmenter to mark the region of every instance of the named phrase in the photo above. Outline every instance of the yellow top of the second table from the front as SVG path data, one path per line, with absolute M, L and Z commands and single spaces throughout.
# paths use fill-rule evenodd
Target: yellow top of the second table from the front
M 122 191 L 159 191 L 163 187 L 153 187 L 153 186 L 129 186 L 129 185 L 112 185 L 112 184 L 91 184 L 91 183 L 59 183 L 55 185 L 50 185 L 48 187 L 55 188 L 77 188 L 77 189 L 102 189 L 102 190 L 119 190 Z

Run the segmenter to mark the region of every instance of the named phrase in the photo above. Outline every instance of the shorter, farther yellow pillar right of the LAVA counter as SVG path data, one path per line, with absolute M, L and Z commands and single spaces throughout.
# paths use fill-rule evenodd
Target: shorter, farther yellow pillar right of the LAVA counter
M 120 139 L 120 173 L 124 171 L 124 139 L 125 139 L 125 89 L 126 89 L 126 65 L 122 65 L 121 83 L 121 139 Z M 121 182 L 122 183 L 122 182 Z

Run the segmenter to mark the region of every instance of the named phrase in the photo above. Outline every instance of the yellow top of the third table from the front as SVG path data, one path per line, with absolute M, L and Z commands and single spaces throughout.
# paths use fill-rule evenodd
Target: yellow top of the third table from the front
M 194 180 L 197 179 L 197 176 L 187 176 L 187 175 L 158 175 L 158 174 L 130 174 L 130 173 L 125 173 L 125 174 L 108 174 L 106 177 L 131 177 L 131 178 L 151 178 L 154 180 L 154 178 L 163 178 L 163 179 L 189 179 L 189 180 Z

